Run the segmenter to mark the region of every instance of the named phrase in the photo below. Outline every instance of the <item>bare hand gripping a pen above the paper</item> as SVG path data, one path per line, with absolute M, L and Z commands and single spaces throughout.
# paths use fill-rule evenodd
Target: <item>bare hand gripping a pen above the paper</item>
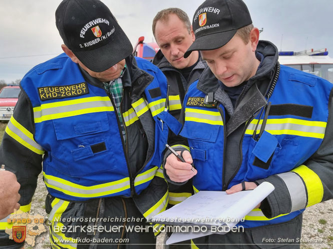
M 180 155 L 180 151 L 177 151 L 177 153 Z M 191 170 L 191 163 L 193 162 L 191 154 L 188 151 L 184 151 L 182 157 L 186 163 L 181 162 L 175 155 L 170 154 L 164 166 L 170 180 L 177 183 L 185 182 L 198 173 L 197 170 L 194 170 L 194 172 Z

